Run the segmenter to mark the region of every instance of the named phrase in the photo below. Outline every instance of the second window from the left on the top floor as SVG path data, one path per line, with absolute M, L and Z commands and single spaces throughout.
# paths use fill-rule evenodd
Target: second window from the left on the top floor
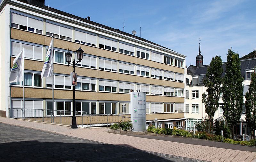
M 72 40 L 73 27 L 46 20 L 46 35 L 55 38 Z

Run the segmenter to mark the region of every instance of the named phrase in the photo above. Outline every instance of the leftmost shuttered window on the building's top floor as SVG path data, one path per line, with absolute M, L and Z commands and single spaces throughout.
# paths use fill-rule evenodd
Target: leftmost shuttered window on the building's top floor
M 42 34 L 43 18 L 36 18 L 32 15 L 27 17 L 24 15 L 11 12 L 11 27 Z

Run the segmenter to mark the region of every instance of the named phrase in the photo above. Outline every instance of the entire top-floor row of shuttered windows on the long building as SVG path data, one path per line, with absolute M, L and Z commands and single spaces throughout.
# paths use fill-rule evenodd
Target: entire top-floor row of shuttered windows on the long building
M 26 30 L 30 32 L 43 33 L 43 18 L 38 18 L 32 15 L 21 13 L 19 11 L 11 12 L 11 27 Z M 53 36 L 59 39 L 65 39 L 72 41 L 73 27 L 63 25 L 57 22 L 46 20 L 46 35 Z M 75 28 L 75 42 L 85 44 L 88 46 L 97 45 L 97 34 L 84 31 L 82 29 Z M 99 35 L 99 48 L 116 51 L 117 52 L 117 40 L 111 39 L 105 36 Z M 135 45 L 119 41 L 119 52 L 135 56 Z M 150 50 L 143 47 L 136 47 L 136 56 L 149 60 Z M 156 53 L 151 51 L 151 60 L 163 63 L 163 53 Z M 172 63 L 166 61 L 170 58 L 164 56 L 164 63 L 173 65 L 176 67 L 183 67 L 183 60 L 172 58 Z

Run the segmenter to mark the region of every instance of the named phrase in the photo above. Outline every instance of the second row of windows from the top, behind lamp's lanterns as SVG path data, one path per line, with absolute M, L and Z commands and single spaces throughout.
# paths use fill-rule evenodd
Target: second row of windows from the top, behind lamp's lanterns
M 43 46 L 29 45 L 29 44 L 25 44 L 24 42 L 11 41 L 11 55 L 12 56 L 16 56 L 18 53 L 20 53 L 22 48 L 24 48 L 25 58 L 34 59 L 34 60 L 42 60 Z M 54 62 L 67 64 L 67 62 L 65 60 L 66 52 L 67 51 L 61 51 L 61 50 L 55 49 L 54 50 Z M 77 55 L 75 55 L 75 60 L 77 61 Z M 99 58 L 99 69 L 100 70 L 117 72 L 117 69 L 118 69 L 117 64 L 118 64 L 117 60 L 108 60 L 108 59 Z M 84 54 L 83 60 L 81 60 L 80 64 L 77 64 L 77 66 L 89 67 L 89 68 L 96 69 L 97 68 L 97 57 Z M 135 65 L 124 63 L 124 62 L 119 62 L 119 73 L 134 75 L 134 72 L 135 72 Z M 163 74 L 164 74 L 164 78 L 163 78 Z M 151 68 L 151 75 L 150 75 L 150 67 L 143 67 L 143 66 L 139 66 L 139 65 L 136 65 L 136 75 L 146 76 L 146 77 L 151 76 L 152 78 L 164 79 L 164 80 L 170 80 L 170 81 L 178 81 L 178 82 L 184 81 L 184 74 L 177 74 L 177 73 L 173 73 L 173 72 L 169 72 L 169 71 L 163 71 L 161 69 Z

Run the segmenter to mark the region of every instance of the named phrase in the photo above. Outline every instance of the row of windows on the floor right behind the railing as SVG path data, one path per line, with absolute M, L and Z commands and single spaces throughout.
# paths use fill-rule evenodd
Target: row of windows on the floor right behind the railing
M 12 100 L 12 108 L 23 108 L 23 100 Z M 96 102 L 76 102 L 76 115 L 83 114 L 129 114 L 129 102 L 100 102 L 97 111 Z M 183 111 L 183 103 L 151 103 L 151 113 L 179 113 Z M 46 115 L 72 115 L 71 101 L 54 101 L 54 112 L 47 111 Z M 43 109 L 43 101 L 25 101 L 26 109 Z M 118 109 L 118 110 L 117 110 Z M 46 101 L 46 110 L 52 109 L 52 101 Z M 146 113 L 150 112 L 150 103 L 146 103 Z M 19 113 L 19 112 L 18 112 Z M 21 113 L 21 112 L 20 112 Z M 37 116 L 40 112 L 37 112 Z M 29 116 L 35 116 L 35 111 L 30 111 Z M 25 116 L 26 117 L 26 116 Z

